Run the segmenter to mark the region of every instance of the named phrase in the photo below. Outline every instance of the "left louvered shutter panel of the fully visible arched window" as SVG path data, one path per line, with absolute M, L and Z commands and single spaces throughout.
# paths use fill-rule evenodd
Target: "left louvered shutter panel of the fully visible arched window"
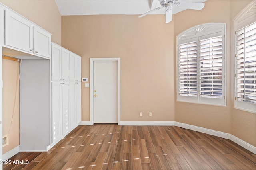
M 197 43 L 179 45 L 179 95 L 197 96 Z

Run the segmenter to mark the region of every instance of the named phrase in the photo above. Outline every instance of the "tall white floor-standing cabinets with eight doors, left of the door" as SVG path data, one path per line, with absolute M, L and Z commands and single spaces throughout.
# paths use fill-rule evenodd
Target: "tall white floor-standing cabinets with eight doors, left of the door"
M 52 43 L 52 143 L 81 121 L 81 82 L 76 79 L 79 76 L 81 57 Z

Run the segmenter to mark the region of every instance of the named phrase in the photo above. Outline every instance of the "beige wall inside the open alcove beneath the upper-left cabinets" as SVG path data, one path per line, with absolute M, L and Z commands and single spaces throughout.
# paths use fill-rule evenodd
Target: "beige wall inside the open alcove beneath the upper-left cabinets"
M 3 136 L 8 134 L 9 137 L 9 145 L 3 147 L 3 154 L 20 145 L 18 76 L 19 62 L 3 59 Z

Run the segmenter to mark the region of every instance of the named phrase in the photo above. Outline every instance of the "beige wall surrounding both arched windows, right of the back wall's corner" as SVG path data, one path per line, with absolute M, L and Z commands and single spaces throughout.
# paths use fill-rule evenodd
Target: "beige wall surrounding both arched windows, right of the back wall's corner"
M 209 128 L 232 135 L 256 146 L 256 114 L 234 107 L 234 18 L 251 0 L 208 0 L 200 10 L 175 15 L 175 36 L 182 31 L 210 22 L 226 23 L 226 106 L 175 102 L 175 121 Z M 216 10 L 218 9 L 218 10 Z M 176 49 L 175 49 L 176 54 Z M 176 68 L 176 66 L 175 66 Z

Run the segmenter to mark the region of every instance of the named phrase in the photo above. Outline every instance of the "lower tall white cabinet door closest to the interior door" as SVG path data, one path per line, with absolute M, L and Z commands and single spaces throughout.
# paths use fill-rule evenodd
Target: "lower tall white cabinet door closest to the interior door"
M 82 121 L 81 119 L 81 82 L 76 82 L 76 124 Z

